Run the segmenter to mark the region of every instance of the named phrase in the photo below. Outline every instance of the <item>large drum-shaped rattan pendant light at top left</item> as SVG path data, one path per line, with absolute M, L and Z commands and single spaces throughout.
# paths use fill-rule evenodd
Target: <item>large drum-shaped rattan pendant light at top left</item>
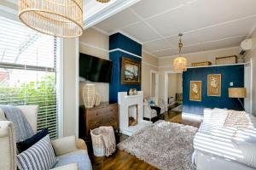
M 55 37 L 83 33 L 83 0 L 19 0 L 19 18 L 33 30 Z

